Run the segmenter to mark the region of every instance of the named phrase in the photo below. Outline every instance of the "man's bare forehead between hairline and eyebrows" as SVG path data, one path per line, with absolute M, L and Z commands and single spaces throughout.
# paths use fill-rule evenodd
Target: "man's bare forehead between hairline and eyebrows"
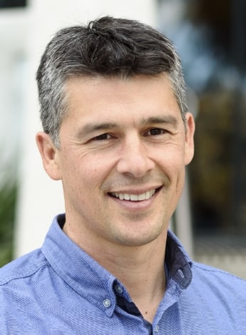
M 178 113 L 177 100 L 168 75 L 131 78 L 73 77 L 66 82 L 67 116 L 119 118 L 133 115 L 150 118 Z

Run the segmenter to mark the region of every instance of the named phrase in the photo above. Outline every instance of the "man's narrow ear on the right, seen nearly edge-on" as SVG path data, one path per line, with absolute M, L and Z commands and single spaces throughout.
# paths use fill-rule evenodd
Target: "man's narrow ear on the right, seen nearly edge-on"
M 186 113 L 186 133 L 185 133 L 185 165 L 188 165 L 194 155 L 194 133 L 195 120 L 191 113 Z

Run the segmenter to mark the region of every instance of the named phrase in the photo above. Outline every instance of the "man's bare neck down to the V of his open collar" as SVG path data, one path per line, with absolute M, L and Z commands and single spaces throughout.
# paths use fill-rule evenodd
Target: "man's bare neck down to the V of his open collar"
M 165 293 L 165 244 L 131 250 L 123 257 L 109 259 L 104 267 L 128 289 L 131 299 L 143 317 L 153 322 L 156 310 Z

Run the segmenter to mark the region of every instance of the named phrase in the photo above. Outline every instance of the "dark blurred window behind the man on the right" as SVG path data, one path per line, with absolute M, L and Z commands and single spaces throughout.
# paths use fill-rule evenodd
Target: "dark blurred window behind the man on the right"
M 158 4 L 199 105 L 188 170 L 195 253 L 246 255 L 246 1 Z

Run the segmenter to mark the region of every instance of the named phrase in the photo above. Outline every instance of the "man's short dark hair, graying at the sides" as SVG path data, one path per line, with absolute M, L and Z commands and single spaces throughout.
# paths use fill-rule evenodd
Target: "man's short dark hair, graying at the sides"
M 130 78 L 167 73 L 185 123 L 188 110 L 180 57 L 173 43 L 152 27 L 110 16 L 58 31 L 36 74 L 43 131 L 59 148 L 59 130 L 68 113 L 66 82 L 72 76 Z

